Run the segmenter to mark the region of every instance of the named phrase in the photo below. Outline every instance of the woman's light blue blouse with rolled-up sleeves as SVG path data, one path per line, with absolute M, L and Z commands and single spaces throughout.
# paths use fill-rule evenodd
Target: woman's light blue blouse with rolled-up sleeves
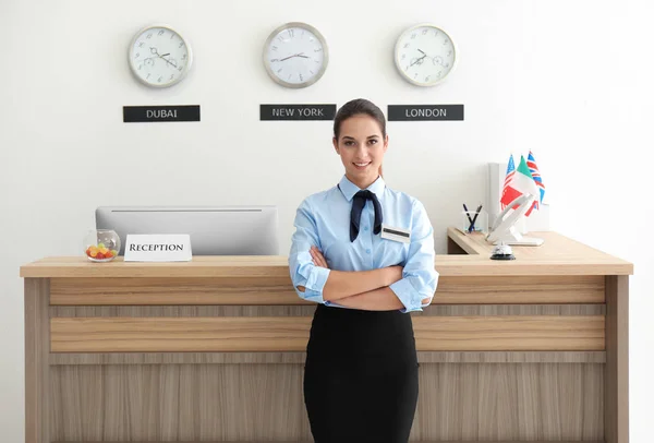
M 340 188 L 340 189 L 339 189 Z M 383 239 L 373 234 L 375 212 L 366 201 L 361 213 L 359 236 L 350 241 L 352 197 L 361 189 L 343 176 L 339 187 L 310 195 L 295 214 L 295 232 L 291 239 L 289 270 L 298 295 L 310 301 L 346 308 L 323 299 L 323 288 L 334 271 L 370 271 L 392 265 L 404 267 L 402 279 L 389 288 L 404 306 L 400 312 L 422 311 L 436 291 L 438 273 L 434 268 L 434 229 L 423 204 L 395 191 L 382 177 L 367 190 L 377 195 L 384 213 L 384 226 L 411 232 L 410 243 Z M 316 246 L 329 268 L 313 264 L 310 248 Z M 298 286 L 304 286 L 302 292 Z

